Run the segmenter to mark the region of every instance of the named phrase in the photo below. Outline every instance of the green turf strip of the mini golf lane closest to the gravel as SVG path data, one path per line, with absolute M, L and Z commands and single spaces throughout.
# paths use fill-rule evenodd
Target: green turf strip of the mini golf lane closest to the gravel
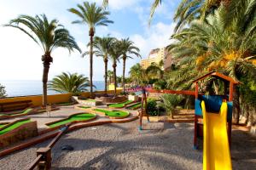
M 55 122 L 55 123 L 50 124 L 50 125 L 48 125 L 48 126 L 49 126 L 49 127 L 57 127 L 57 126 L 60 126 L 60 125 L 67 124 L 68 122 L 85 121 L 85 120 L 89 120 L 89 119 L 94 118 L 94 117 L 96 117 L 96 115 L 94 115 L 94 114 L 90 114 L 90 113 L 81 113 L 81 114 L 79 114 L 79 115 L 71 116 L 71 117 L 68 118 L 67 120 Z

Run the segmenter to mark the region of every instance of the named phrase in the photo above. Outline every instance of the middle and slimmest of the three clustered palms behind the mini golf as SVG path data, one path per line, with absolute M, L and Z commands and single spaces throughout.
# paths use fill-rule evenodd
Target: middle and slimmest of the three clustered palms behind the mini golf
M 116 67 L 117 62 L 119 62 L 119 58 L 122 55 L 120 50 L 120 42 L 118 40 L 115 40 L 113 42 L 113 45 L 109 51 L 110 59 L 112 60 L 112 67 L 113 67 L 113 86 L 114 86 L 114 95 L 116 95 L 116 87 L 117 87 L 117 81 L 116 81 Z

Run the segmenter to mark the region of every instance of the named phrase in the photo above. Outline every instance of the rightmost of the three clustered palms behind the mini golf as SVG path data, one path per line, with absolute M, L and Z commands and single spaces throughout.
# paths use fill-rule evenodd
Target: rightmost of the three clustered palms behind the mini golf
M 122 53 L 122 59 L 123 59 L 123 77 L 122 77 L 123 93 L 125 93 L 125 63 L 126 63 L 126 59 L 133 59 L 131 55 L 135 55 L 135 56 L 141 58 L 141 55 L 139 54 L 140 49 L 134 46 L 134 42 L 129 40 L 129 37 L 126 39 L 121 39 L 120 46 L 121 46 L 121 53 Z

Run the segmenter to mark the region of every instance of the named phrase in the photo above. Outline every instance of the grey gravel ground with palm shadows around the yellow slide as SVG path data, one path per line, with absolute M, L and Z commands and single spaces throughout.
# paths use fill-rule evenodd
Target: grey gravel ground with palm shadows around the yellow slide
M 192 123 L 144 122 L 143 132 L 137 125 L 109 124 L 67 133 L 52 151 L 53 169 L 201 169 L 202 152 L 192 147 Z M 233 131 L 232 141 L 233 169 L 255 169 L 256 139 Z M 0 169 L 26 169 L 38 147 L 48 142 L 3 157 Z M 61 150 L 64 144 L 74 150 Z

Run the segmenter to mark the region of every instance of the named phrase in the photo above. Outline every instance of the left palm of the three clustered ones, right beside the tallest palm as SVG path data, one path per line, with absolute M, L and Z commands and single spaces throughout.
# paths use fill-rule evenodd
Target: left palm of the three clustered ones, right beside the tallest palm
M 107 95 L 108 90 L 108 55 L 110 48 L 114 42 L 113 37 L 95 37 L 93 46 L 95 48 L 94 54 L 96 54 L 97 57 L 102 57 L 105 65 L 105 94 Z

